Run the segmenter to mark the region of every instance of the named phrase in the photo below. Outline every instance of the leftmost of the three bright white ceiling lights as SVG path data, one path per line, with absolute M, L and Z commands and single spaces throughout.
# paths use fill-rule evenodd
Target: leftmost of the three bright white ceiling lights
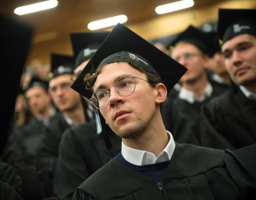
M 38 12 L 46 9 L 52 9 L 58 5 L 57 0 L 49 0 L 45 2 L 39 2 L 35 4 L 25 5 L 21 7 L 17 7 L 13 12 L 18 15 Z

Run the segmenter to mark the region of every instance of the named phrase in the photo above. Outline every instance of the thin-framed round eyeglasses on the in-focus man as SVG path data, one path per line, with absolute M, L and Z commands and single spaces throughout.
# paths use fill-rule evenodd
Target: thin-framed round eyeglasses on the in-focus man
M 109 105 L 109 97 L 110 97 L 110 94 L 108 92 L 109 87 L 115 87 L 116 92 L 123 97 L 130 96 L 135 90 L 134 78 L 139 78 L 139 77 L 125 75 L 118 78 L 115 85 L 108 86 L 106 90 L 105 89 L 96 90 L 92 94 L 92 98 L 90 99 L 92 101 L 93 106 L 98 109 L 107 108 L 107 106 Z M 139 79 L 141 79 L 142 81 L 148 82 L 145 79 L 142 79 L 142 78 L 139 78 Z

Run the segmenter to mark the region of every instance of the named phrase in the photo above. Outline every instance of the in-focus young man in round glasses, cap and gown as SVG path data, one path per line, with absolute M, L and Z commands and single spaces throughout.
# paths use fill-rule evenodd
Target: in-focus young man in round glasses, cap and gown
M 125 26 L 111 31 L 71 87 L 92 98 L 103 129 L 107 122 L 122 138 L 122 150 L 73 199 L 255 196 L 255 177 L 231 151 L 181 145 L 165 130 L 161 104 L 185 71 Z

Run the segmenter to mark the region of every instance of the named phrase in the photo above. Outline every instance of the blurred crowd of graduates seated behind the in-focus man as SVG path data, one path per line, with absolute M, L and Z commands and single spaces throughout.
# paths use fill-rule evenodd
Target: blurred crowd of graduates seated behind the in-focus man
M 244 54 L 252 51 L 245 61 L 238 53 L 230 61 L 231 47 L 227 47 L 230 33 L 225 32 L 225 23 L 237 16 L 247 17 L 241 23 L 253 27 L 245 32 L 252 44 L 236 47 Z M 188 69 L 161 107 L 165 129 L 175 142 L 221 150 L 255 144 L 255 16 L 255 10 L 228 15 L 223 11 L 218 31 L 204 33 L 189 26 L 169 44 L 155 44 Z M 0 166 L 1 174 L 7 174 L 1 181 L 9 183 L 20 199 L 72 199 L 78 186 L 121 151 L 121 138 L 109 127 L 106 138 L 89 98 L 70 87 L 108 34 L 70 33 L 73 55 L 52 53 L 51 63 L 36 60 L 23 72 Z M 243 62 L 249 67 L 242 68 Z M 241 70 L 234 71 L 233 65 Z M 25 186 L 26 179 L 30 182 Z

